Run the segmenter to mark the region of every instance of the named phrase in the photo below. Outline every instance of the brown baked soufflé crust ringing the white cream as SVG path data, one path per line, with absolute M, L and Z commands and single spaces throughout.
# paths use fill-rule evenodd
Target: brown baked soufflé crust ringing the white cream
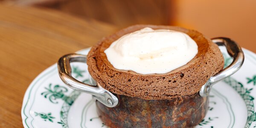
M 104 53 L 111 43 L 131 32 L 150 27 L 184 32 L 198 45 L 197 55 L 186 65 L 164 74 L 142 75 L 131 70 L 118 70 Z M 103 38 L 87 55 L 90 75 L 113 93 L 146 100 L 185 98 L 195 95 L 206 81 L 224 67 L 224 58 L 218 46 L 200 32 L 177 26 L 134 25 Z

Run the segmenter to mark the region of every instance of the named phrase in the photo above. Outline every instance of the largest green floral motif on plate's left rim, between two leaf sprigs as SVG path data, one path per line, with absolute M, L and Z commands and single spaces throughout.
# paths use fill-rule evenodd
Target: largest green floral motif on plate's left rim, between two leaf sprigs
M 49 84 L 49 88 L 44 87 L 47 91 L 41 93 L 45 98 L 49 98 L 49 101 L 57 104 L 57 99 L 62 99 L 64 102 L 68 103 L 69 105 L 73 104 L 73 99 L 69 96 L 66 96 L 64 93 L 66 93 L 68 90 L 66 87 L 62 87 L 58 84 L 52 87 L 52 84 Z

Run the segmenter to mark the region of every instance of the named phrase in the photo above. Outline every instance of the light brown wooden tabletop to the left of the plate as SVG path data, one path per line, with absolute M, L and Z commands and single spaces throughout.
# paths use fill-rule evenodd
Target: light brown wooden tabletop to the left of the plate
M 52 10 L 0 5 L 0 128 L 23 127 L 23 96 L 39 73 L 116 30 Z

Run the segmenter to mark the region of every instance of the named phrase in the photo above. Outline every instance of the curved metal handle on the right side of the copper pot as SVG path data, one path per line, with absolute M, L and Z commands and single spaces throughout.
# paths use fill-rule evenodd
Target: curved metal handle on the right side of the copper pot
M 230 38 L 212 38 L 212 42 L 216 43 L 218 46 L 225 46 L 228 54 L 233 57 L 233 62 L 215 76 L 211 76 L 210 79 L 201 87 L 199 94 L 202 97 L 209 95 L 213 84 L 236 73 L 244 62 L 244 53 L 241 47 Z

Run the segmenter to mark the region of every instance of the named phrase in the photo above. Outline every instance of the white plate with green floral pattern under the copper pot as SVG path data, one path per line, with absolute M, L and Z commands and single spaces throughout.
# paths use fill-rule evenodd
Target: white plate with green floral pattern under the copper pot
M 89 49 L 79 51 L 87 54 Z M 226 50 L 225 65 L 232 58 Z M 256 54 L 243 49 L 244 64 L 233 76 L 215 84 L 209 111 L 196 128 L 255 128 Z M 76 79 L 88 82 L 87 65 L 73 63 Z M 92 96 L 65 86 L 54 64 L 38 75 L 26 90 L 21 110 L 25 128 L 102 128 Z

